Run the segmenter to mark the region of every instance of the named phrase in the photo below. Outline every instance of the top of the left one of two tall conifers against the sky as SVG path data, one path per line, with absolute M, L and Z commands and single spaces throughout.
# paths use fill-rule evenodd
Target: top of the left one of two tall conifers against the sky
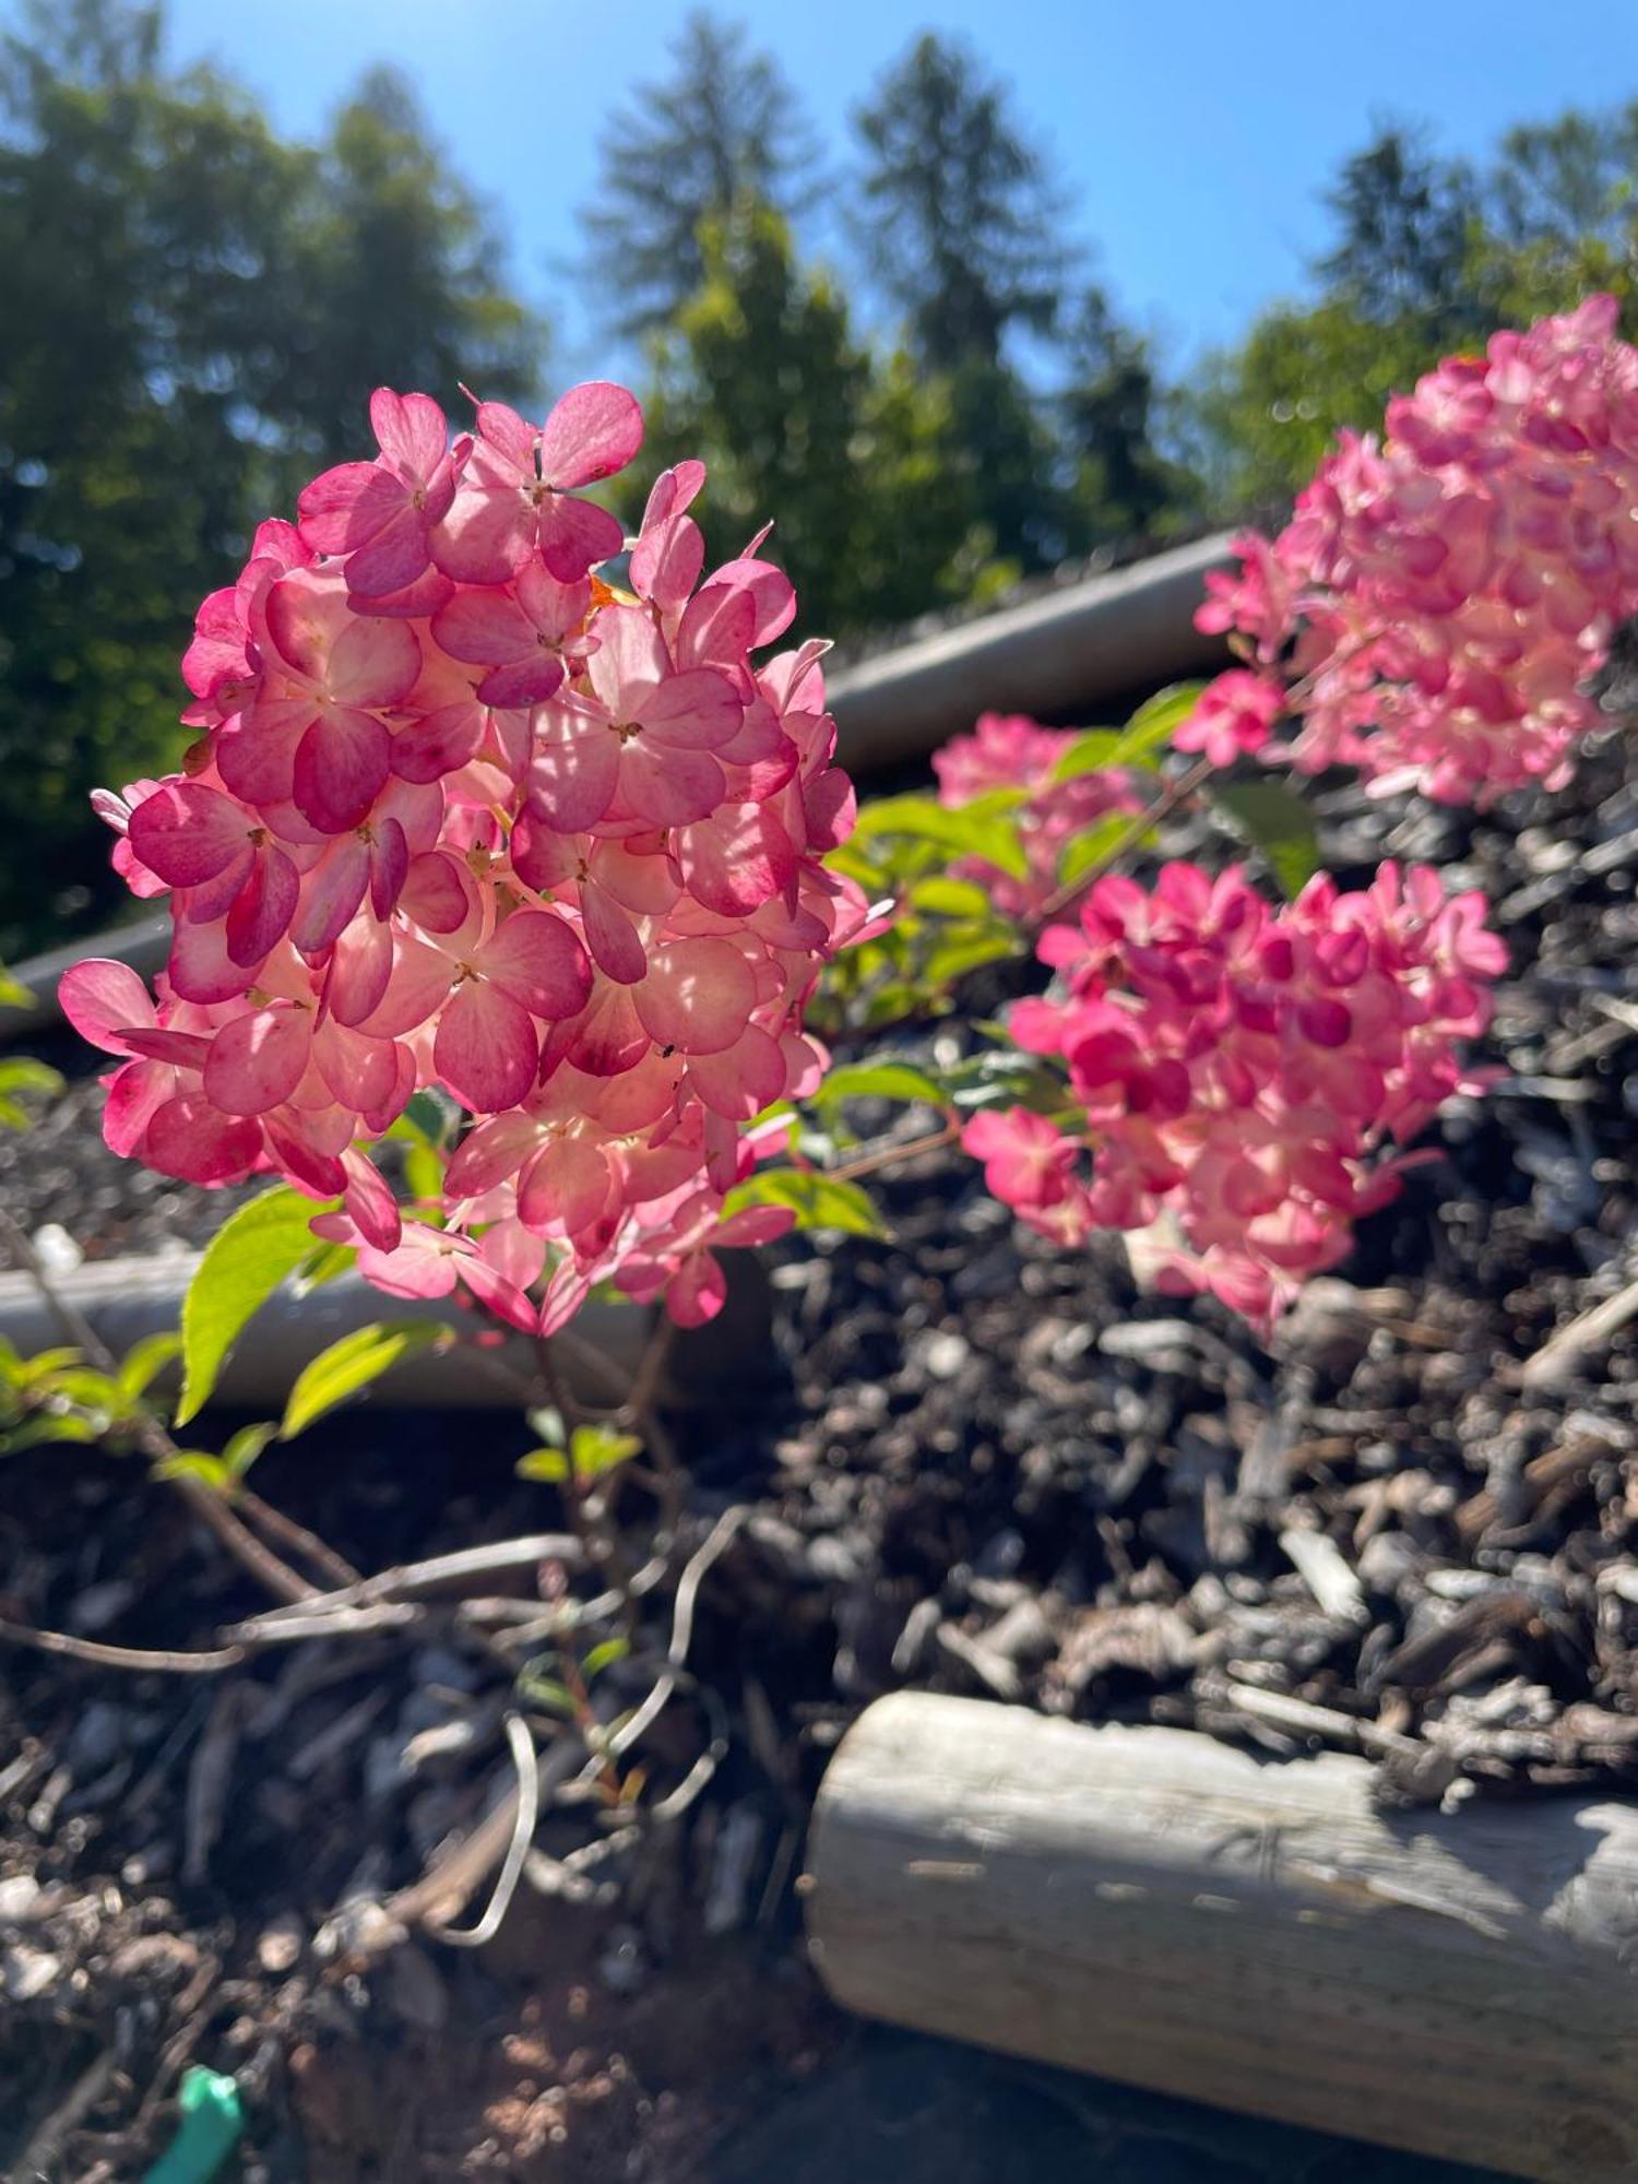
M 664 83 L 640 85 L 603 133 L 581 221 L 590 271 L 622 334 L 675 317 L 705 280 L 701 232 L 740 199 L 793 218 L 812 199 L 817 144 L 778 63 L 745 24 L 697 11 Z

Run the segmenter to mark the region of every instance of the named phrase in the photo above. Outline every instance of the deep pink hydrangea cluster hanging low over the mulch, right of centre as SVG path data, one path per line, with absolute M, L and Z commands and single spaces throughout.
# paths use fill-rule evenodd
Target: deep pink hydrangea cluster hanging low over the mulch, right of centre
M 1396 1197 L 1439 1103 L 1479 1090 L 1459 1042 L 1507 961 L 1483 898 L 1424 865 L 1358 893 L 1321 874 L 1284 909 L 1238 867 L 1168 865 L 1153 893 L 1103 878 L 1040 954 L 1057 989 L 1011 1035 L 1066 1066 L 1072 1120 L 978 1114 L 965 1149 L 1064 1245 L 1160 1225 L 1158 1284 L 1258 1326 Z

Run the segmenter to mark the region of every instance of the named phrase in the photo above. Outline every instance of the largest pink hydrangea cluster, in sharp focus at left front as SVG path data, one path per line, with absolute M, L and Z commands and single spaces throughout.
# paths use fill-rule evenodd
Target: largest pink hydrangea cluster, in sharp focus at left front
M 454 439 L 382 389 L 371 424 L 201 607 L 181 771 L 98 799 L 175 919 L 157 1002 L 118 963 L 63 981 L 120 1057 L 107 1140 L 339 1201 L 317 1232 L 395 1295 L 553 1330 L 609 1280 L 705 1319 L 714 1247 L 791 1221 L 723 1197 L 745 1125 L 821 1075 L 802 1009 L 865 922 L 819 863 L 854 817 L 823 646 L 764 655 L 795 594 L 760 542 L 705 572 L 699 463 L 627 587 L 596 574 L 627 539 L 581 489 L 642 439 L 620 387 Z M 402 1208 L 367 1147 L 430 1085 L 476 1120 Z

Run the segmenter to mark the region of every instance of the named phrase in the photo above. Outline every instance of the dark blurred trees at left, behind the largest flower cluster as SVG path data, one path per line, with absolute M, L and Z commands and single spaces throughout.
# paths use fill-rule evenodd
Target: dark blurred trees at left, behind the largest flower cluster
M 280 142 L 159 11 L 41 0 L 0 48 L 0 948 L 124 889 L 98 782 L 175 764 L 177 660 L 256 520 L 356 450 L 369 389 L 535 378 L 487 221 L 371 74 Z

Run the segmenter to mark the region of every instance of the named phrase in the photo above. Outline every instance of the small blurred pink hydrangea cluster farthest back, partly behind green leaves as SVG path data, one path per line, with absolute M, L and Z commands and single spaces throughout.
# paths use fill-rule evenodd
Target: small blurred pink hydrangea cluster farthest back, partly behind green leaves
M 1031 919 L 1057 891 L 1064 845 L 1112 812 L 1138 812 L 1142 799 L 1131 775 L 1094 767 L 1055 782 L 1064 753 L 1079 743 L 1072 727 L 1042 727 L 1022 712 L 981 712 L 970 736 L 952 736 L 933 753 L 939 804 L 959 810 L 998 788 L 1026 788 L 1011 815 L 1024 843 L 1029 874 L 1020 880 L 981 856 L 959 858 L 950 871 L 976 880 L 1005 917 Z

